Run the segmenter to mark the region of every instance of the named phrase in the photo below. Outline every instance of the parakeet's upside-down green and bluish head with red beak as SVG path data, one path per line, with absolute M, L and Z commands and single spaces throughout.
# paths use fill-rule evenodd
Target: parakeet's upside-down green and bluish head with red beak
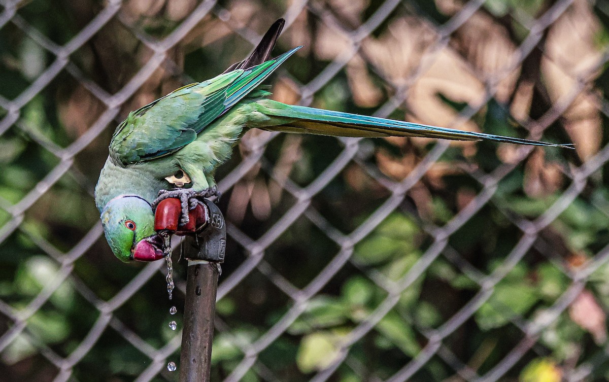
M 102 210 L 101 219 L 106 240 L 122 262 L 151 262 L 164 257 L 163 240 L 154 231 L 152 207 L 143 198 L 114 198 Z

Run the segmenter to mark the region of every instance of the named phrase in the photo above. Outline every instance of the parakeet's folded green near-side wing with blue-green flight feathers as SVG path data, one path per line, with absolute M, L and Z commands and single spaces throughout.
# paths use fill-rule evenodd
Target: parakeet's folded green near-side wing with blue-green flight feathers
M 126 165 L 159 158 L 188 145 L 298 49 L 250 69 L 184 86 L 129 113 L 112 136 L 110 156 Z

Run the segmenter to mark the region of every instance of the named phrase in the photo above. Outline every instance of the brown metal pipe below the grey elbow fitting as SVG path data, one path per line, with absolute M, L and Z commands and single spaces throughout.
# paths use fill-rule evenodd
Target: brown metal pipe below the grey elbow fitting
M 197 264 L 196 260 L 189 260 L 180 353 L 180 382 L 209 381 L 218 276 L 215 264 Z

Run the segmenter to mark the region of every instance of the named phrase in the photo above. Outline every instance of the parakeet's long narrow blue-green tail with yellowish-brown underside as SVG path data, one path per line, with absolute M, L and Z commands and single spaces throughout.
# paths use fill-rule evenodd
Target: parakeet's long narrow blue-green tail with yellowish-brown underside
M 431 137 L 457 141 L 486 139 L 519 145 L 573 148 L 572 144 L 552 144 L 530 139 L 420 125 L 419 123 L 341 113 L 340 111 L 286 105 L 273 100 L 259 100 L 256 108 L 260 113 L 270 117 L 264 125 L 258 128 L 269 131 L 347 137 Z

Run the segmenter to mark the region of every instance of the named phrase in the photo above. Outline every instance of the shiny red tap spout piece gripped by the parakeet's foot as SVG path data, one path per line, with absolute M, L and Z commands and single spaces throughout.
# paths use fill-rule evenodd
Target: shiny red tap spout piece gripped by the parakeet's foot
M 178 198 L 167 198 L 158 204 L 154 216 L 155 231 L 167 230 L 178 236 L 193 234 L 205 226 L 208 221 L 208 210 L 205 204 L 198 203 L 197 207 L 188 211 L 188 224 L 180 226 L 182 207 Z

